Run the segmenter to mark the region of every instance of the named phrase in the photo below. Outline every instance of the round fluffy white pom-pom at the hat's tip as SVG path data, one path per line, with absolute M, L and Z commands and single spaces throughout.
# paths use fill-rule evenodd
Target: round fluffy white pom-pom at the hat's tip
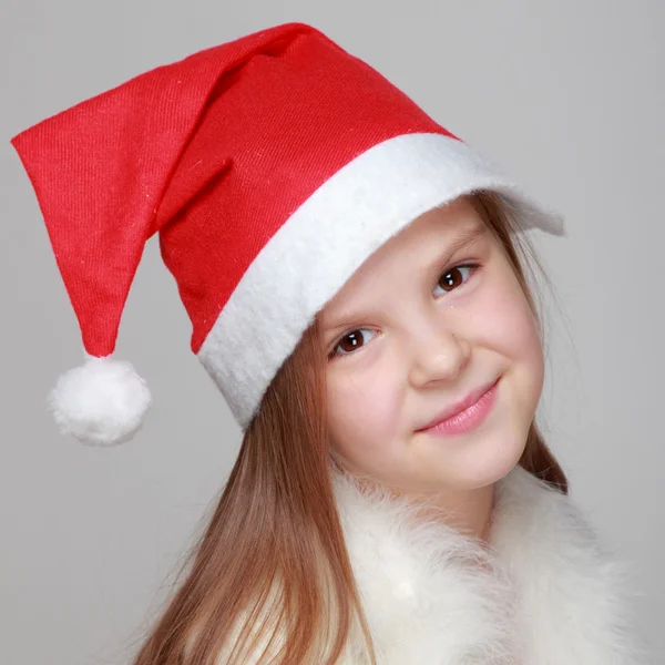
M 58 379 L 48 403 L 62 433 L 92 446 L 113 446 L 136 433 L 151 395 L 130 362 L 89 356 Z

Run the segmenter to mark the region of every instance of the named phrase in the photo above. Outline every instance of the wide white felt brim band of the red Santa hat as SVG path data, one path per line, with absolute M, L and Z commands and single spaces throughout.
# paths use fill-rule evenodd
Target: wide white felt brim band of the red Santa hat
M 375 145 L 295 211 L 249 266 L 198 351 L 243 430 L 316 313 L 365 259 L 422 213 L 481 188 L 504 195 L 522 228 L 563 235 L 555 213 L 531 202 L 468 144 L 434 133 Z

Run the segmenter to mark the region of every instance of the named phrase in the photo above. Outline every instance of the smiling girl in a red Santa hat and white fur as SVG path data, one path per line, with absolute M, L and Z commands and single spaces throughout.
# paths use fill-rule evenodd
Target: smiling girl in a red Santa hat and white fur
M 134 665 L 637 662 L 620 562 L 534 421 L 528 228 L 560 218 L 320 31 L 157 68 L 12 140 L 86 361 L 50 398 L 116 444 L 112 356 L 160 234 L 192 349 L 243 431 Z

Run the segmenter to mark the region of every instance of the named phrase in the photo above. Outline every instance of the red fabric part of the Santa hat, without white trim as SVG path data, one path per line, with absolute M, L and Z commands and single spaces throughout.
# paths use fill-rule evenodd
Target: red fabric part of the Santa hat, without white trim
M 154 233 L 197 352 L 299 205 L 354 157 L 410 132 L 451 136 L 321 32 L 287 23 L 151 70 L 12 144 L 84 346 L 105 356 Z

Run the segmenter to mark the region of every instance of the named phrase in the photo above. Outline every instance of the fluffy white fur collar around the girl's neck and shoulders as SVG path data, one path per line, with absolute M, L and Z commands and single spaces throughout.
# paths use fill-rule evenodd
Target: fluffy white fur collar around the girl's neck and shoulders
M 628 569 L 570 497 L 522 467 L 497 483 L 489 548 L 347 477 L 334 487 L 380 665 L 641 662 Z M 356 626 L 342 663 L 361 652 Z

